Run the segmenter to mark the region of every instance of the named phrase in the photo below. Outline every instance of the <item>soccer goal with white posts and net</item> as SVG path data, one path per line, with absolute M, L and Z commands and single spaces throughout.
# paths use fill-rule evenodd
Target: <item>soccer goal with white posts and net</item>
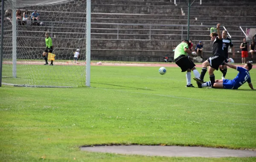
M 4 0 L 2 6 L 2 84 L 90 87 L 90 0 Z

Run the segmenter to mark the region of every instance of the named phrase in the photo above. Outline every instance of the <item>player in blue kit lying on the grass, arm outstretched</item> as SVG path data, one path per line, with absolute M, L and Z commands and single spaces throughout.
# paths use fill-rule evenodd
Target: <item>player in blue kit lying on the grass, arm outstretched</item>
M 247 64 L 245 64 L 243 67 L 237 67 L 235 65 L 227 64 L 227 63 L 224 63 L 224 65 L 227 65 L 228 67 L 231 67 L 231 68 L 239 71 L 239 73 L 236 75 L 236 78 L 234 78 L 233 80 L 229 80 L 229 79 L 215 80 L 213 87 L 212 87 L 211 81 L 208 81 L 206 83 L 200 83 L 198 81 L 197 82 L 198 88 L 212 87 L 212 88 L 219 88 L 219 89 L 234 89 L 234 90 L 236 90 L 247 81 L 249 87 L 252 90 L 255 90 L 253 88 L 253 84 L 251 83 L 250 74 L 249 74 L 250 69 L 252 69 L 252 67 L 253 67 L 253 65 L 251 63 L 247 62 Z M 224 69 L 224 65 L 221 65 L 220 68 Z

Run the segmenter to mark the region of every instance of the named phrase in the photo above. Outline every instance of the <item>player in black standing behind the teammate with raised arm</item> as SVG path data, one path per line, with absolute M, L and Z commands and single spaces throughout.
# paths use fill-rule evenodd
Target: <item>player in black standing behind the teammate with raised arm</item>
M 230 38 L 227 38 L 227 30 L 222 31 L 222 42 L 225 54 L 225 63 L 228 63 L 228 47 L 232 47 L 233 58 L 235 57 L 235 47 L 233 46 L 232 40 Z M 220 68 L 220 71 L 223 73 L 222 79 L 225 79 L 225 76 L 227 74 L 227 65 L 224 65 L 224 69 Z

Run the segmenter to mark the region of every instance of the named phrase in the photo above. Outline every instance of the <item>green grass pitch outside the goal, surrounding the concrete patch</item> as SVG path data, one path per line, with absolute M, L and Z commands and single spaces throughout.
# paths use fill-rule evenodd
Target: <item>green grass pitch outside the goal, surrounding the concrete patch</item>
M 256 161 L 80 151 L 102 144 L 256 149 L 256 90 L 247 83 L 239 90 L 187 88 L 179 68 L 167 67 L 166 75 L 158 68 L 92 66 L 91 88 L 0 87 L 0 161 Z M 226 78 L 236 75 L 228 69 Z M 256 69 L 250 75 L 256 87 Z

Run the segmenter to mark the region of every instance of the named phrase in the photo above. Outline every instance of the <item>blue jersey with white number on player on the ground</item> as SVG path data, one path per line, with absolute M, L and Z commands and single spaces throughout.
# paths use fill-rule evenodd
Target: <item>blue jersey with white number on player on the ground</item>
M 236 67 L 236 70 L 239 73 L 236 75 L 236 78 L 232 80 L 233 89 L 238 89 L 241 85 L 243 85 L 246 81 L 251 83 L 249 71 L 243 67 Z

